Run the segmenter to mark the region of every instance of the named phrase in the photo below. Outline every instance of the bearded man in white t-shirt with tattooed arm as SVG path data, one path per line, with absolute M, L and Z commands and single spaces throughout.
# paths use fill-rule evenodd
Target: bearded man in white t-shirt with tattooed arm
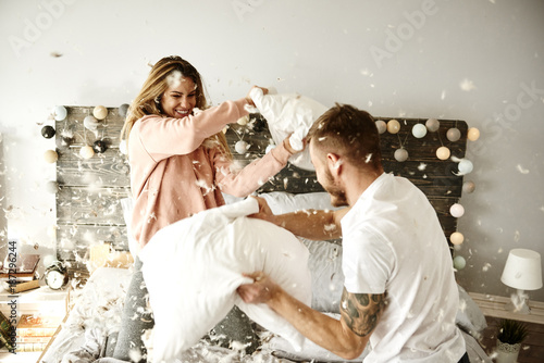
M 458 291 L 452 256 L 426 197 L 409 180 L 383 172 L 372 116 L 336 105 L 308 134 L 318 182 L 339 211 L 273 215 L 260 199 L 255 215 L 295 235 L 343 237 L 344 291 L 336 321 L 297 301 L 261 272 L 238 293 L 267 303 L 302 335 L 364 362 L 468 362 L 455 325 Z

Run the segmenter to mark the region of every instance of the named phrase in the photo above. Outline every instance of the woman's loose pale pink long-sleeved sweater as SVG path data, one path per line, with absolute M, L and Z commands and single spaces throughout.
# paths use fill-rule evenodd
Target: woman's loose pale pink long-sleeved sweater
M 242 171 L 232 170 L 208 137 L 245 116 L 245 99 L 184 118 L 144 116 L 128 138 L 133 237 L 143 248 L 160 228 L 224 204 L 221 191 L 246 197 L 280 172 L 290 153 L 280 145 Z

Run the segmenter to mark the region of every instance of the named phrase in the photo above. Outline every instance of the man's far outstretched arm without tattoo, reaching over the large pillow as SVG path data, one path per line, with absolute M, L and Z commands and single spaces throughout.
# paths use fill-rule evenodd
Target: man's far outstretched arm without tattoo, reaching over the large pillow
M 337 211 L 301 210 L 275 215 L 264 198 L 254 198 L 259 201 L 259 212 L 250 215 L 251 217 L 269 221 L 289 230 L 295 236 L 312 240 L 342 237 L 341 220 L 349 211 L 349 208 Z

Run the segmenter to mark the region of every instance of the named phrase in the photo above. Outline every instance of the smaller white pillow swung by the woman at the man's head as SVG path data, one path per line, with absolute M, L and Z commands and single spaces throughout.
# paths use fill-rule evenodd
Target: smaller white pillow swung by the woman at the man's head
M 293 134 L 289 143 L 293 149 L 301 150 L 302 139 L 311 125 L 327 108 L 300 95 L 263 95 L 262 89 L 251 89 L 249 96 L 256 108 L 267 118 L 270 134 L 276 145 Z M 289 162 L 300 168 L 313 171 L 308 148 L 290 157 Z

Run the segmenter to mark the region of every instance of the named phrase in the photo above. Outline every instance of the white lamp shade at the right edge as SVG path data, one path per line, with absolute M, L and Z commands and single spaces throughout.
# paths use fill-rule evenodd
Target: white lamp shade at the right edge
M 542 287 L 540 253 L 521 248 L 510 250 L 500 280 L 519 290 L 540 289 Z

